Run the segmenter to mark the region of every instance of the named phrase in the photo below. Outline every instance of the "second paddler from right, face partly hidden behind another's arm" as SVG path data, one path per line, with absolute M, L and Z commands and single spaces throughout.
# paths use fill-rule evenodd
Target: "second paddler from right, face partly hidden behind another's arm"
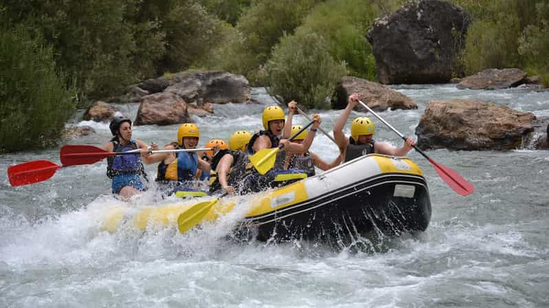
M 292 126 L 292 117 L 297 111 L 297 102 L 294 102 L 293 100 L 288 103 L 288 119 L 286 122 L 286 125 L 284 126 L 284 137 L 290 137 L 291 135 L 294 135 L 294 133 L 297 133 L 303 126 L 301 125 L 294 125 Z M 291 131 L 290 128 L 291 127 Z M 305 137 L 308 135 L 308 131 L 302 131 L 297 137 L 294 138 L 294 142 L 302 143 L 303 140 L 305 140 Z M 314 166 L 318 167 L 319 169 L 325 171 L 330 168 L 334 168 L 334 166 L 337 166 L 338 164 L 341 164 L 343 162 L 343 153 L 338 155 L 336 159 L 334 159 L 332 162 L 328 163 L 325 162 L 319 155 L 316 155 L 315 153 L 312 153 L 311 151 L 307 151 L 303 154 L 290 154 L 288 153 L 286 155 L 286 164 L 284 165 L 284 168 L 286 170 L 288 169 L 299 169 L 305 171 L 308 176 L 312 177 L 315 174 Z

